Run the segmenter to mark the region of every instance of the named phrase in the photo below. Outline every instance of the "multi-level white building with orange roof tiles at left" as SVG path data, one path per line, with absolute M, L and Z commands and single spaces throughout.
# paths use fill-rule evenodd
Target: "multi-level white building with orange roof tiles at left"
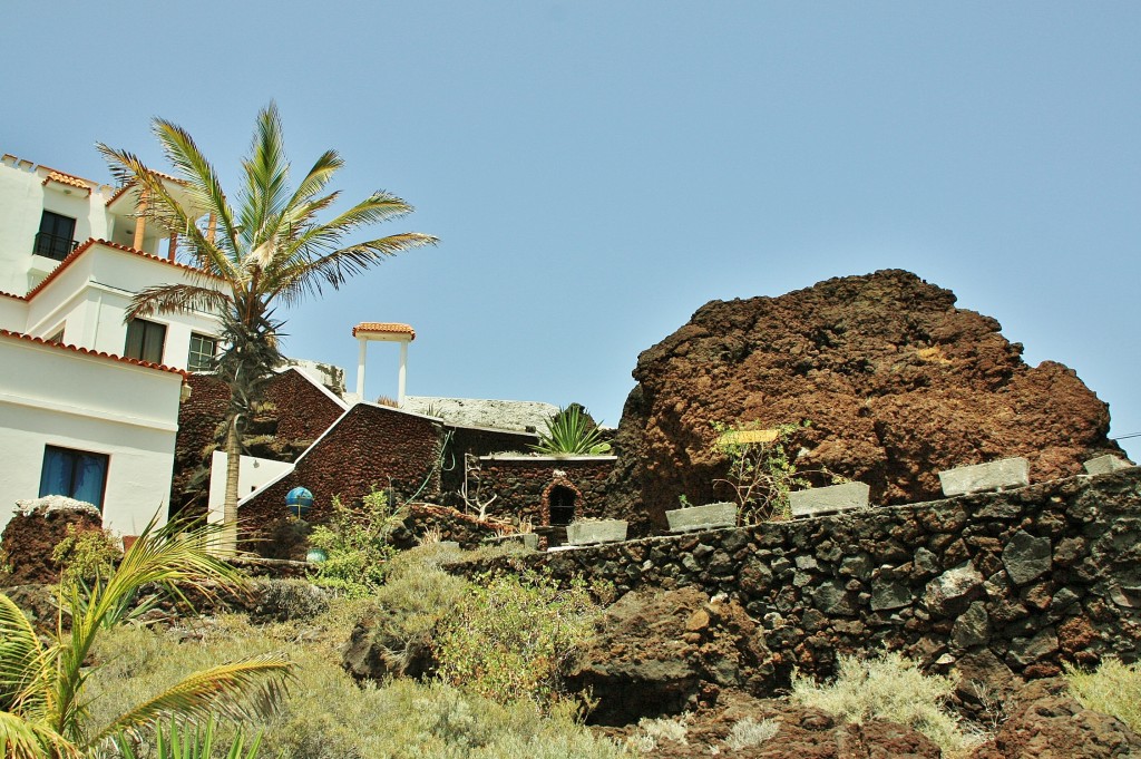
M 0 159 L 0 530 L 47 494 L 95 502 L 124 534 L 165 518 L 183 376 L 219 323 L 124 320 L 136 292 L 204 276 L 138 210 L 132 186 Z

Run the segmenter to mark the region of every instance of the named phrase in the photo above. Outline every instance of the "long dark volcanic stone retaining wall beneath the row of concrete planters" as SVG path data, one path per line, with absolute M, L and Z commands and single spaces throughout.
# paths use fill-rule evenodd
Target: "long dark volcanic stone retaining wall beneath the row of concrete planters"
M 1141 469 L 450 568 L 508 563 L 622 592 L 725 594 L 760 623 L 776 672 L 825 676 L 836 654 L 887 647 L 938 671 L 1046 677 L 1141 655 Z

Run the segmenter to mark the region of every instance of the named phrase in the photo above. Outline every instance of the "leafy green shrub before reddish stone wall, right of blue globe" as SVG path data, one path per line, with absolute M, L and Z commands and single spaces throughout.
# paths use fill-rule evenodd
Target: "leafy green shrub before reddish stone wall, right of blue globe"
M 332 517 L 317 525 L 309 542 L 325 551 L 314 581 L 348 596 L 362 597 L 377 591 L 385 582 L 388 560 L 396 554 L 389 542 L 393 532 L 407 518 L 407 509 L 389 504 L 383 491 L 373 488 L 351 508 L 333 496 Z

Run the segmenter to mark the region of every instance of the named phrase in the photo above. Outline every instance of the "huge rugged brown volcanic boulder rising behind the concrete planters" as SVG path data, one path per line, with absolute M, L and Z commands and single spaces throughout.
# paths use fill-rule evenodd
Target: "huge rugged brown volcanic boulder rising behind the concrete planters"
M 793 450 L 872 486 L 877 503 L 938 498 L 938 471 L 1021 455 L 1034 481 L 1120 454 L 1109 411 L 1073 370 L 1021 358 L 994 318 L 898 269 L 779 298 L 714 300 L 644 352 L 615 447 L 612 510 L 637 522 L 723 499 L 711 422 L 810 420 Z M 645 525 L 644 525 L 645 526 Z

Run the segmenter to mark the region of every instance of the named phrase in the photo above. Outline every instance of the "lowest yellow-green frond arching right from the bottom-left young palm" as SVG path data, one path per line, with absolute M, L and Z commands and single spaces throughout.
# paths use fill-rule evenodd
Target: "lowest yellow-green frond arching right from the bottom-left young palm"
M 265 717 L 285 696 L 291 669 L 292 663 L 284 656 L 261 654 L 195 672 L 118 717 L 96 733 L 91 743 L 153 725 L 171 714 L 195 720 L 211 716 L 233 720 Z

